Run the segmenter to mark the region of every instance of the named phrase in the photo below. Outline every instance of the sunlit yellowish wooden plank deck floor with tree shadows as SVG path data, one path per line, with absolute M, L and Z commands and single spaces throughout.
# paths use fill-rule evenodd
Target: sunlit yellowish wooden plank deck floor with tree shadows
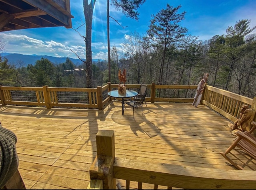
M 19 171 L 27 189 L 84 189 L 96 156 L 98 130 L 114 130 L 116 157 L 236 170 L 219 154 L 234 136 L 212 109 L 190 103 L 120 102 L 104 110 L 0 106 L 2 126 L 18 137 Z M 124 185 L 124 182 L 120 182 Z

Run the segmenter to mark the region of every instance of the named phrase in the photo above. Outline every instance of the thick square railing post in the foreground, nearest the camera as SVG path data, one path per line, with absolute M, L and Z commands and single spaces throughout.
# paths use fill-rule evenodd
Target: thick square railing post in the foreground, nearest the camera
M 115 159 L 114 131 L 100 130 L 96 135 L 97 156 L 90 167 L 90 179 L 102 180 L 104 189 L 116 189 L 116 179 L 113 177 Z

